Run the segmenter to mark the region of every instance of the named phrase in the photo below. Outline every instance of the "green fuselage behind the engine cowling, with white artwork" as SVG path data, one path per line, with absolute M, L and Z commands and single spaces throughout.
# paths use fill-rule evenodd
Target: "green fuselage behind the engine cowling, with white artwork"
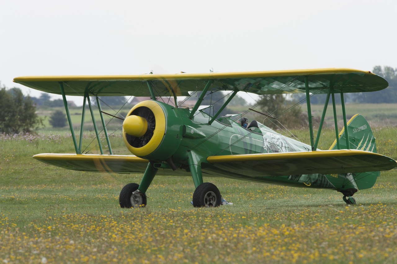
M 285 137 L 259 122 L 256 122 L 257 126 L 243 128 L 237 122 L 241 115 L 226 115 L 209 124 L 212 117 L 204 111 L 196 111 L 193 118 L 189 119 L 190 109 L 175 108 L 166 104 L 162 104 L 162 107 L 170 110 L 166 110 L 167 128 L 179 129 L 182 134 L 179 146 L 172 154 L 172 160 L 187 171 L 187 153 L 190 151 L 201 166 L 203 176 L 223 176 L 295 187 L 357 189 L 354 180 L 346 180 L 346 174 L 266 176 L 265 172 L 254 170 L 249 164 L 238 163 L 234 168 L 226 169 L 211 164 L 207 161 L 208 156 L 310 151 L 310 145 Z M 183 125 L 178 127 L 173 124 Z M 177 134 L 176 137 L 180 135 Z

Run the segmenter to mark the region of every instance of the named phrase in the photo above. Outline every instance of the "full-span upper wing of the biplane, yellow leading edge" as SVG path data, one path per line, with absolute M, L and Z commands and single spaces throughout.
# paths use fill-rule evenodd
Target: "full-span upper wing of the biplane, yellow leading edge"
M 189 96 L 201 91 L 208 81 L 222 90 L 239 90 L 254 94 L 285 94 L 306 92 L 334 93 L 373 92 L 386 88 L 387 81 L 369 71 L 354 69 L 307 69 L 288 71 L 257 71 L 237 73 L 180 73 L 170 75 L 119 75 L 119 76 L 42 76 L 17 77 L 14 82 L 30 88 L 61 94 L 62 84 L 69 96 L 151 96 L 148 83 L 156 96 Z

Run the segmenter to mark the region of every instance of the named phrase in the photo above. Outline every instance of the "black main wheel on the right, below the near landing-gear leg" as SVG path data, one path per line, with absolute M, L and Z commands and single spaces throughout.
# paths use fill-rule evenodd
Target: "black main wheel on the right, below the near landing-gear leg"
M 194 207 L 217 207 L 221 204 L 221 193 L 218 188 L 210 183 L 200 184 L 193 193 Z

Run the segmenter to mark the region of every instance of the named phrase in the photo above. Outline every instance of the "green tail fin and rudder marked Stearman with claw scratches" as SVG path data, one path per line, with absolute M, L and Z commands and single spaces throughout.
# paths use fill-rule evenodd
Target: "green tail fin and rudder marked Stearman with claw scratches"
M 370 125 L 362 115 L 354 115 L 349 122 L 347 122 L 347 132 L 349 134 L 350 149 L 360 149 L 364 151 L 376 152 L 375 137 L 372 134 Z M 345 127 L 339 133 L 340 149 L 347 149 Z M 337 149 L 336 140 L 331 145 L 330 149 Z M 358 189 L 368 189 L 374 186 L 376 179 L 380 172 L 362 172 L 358 173 L 353 178 L 357 184 Z

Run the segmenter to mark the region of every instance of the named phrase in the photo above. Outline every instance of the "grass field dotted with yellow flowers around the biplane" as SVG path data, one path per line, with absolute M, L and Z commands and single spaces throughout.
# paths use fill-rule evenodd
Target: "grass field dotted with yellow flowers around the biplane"
M 397 159 L 395 128 L 373 130 L 378 152 Z M 292 132 L 307 143 L 306 131 Z M 324 130 L 324 149 L 333 135 Z M 115 153 L 127 154 L 118 135 L 111 140 Z M 2 263 L 397 262 L 396 169 L 358 191 L 351 206 L 336 191 L 204 178 L 234 204 L 197 209 L 190 177 L 158 176 L 145 208 L 121 209 L 121 188 L 141 175 L 63 170 L 31 158 L 73 153 L 69 133 L 2 135 L 0 148 Z

